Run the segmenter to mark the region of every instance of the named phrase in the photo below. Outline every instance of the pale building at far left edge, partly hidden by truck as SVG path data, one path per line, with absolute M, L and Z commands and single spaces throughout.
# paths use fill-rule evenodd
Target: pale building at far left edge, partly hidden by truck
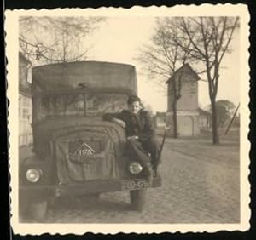
M 32 144 L 32 64 L 19 53 L 19 146 Z

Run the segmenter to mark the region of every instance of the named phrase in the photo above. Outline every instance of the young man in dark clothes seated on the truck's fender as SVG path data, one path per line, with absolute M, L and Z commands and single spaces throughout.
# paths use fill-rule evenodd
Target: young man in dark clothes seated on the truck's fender
M 148 179 L 152 180 L 153 169 L 156 170 L 159 160 L 152 118 L 148 111 L 143 111 L 141 100 L 137 96 L 130 96 L 127 103 L 129 110 L 107 113 L 103 116 L 103 120 L 117 123 L 125 128 L 129 151 L 146 169 Z M 148 153 L 151 158 L 148 157 Z M 150 163 L 151 159 L 152 163 Z

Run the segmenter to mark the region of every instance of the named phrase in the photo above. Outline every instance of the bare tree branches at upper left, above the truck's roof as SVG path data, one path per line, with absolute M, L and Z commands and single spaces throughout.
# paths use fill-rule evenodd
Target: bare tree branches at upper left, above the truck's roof
M 83 41 L 96 30 L 99 17 L 20 17 L 20 51 L 40 63 L 85 60 Z

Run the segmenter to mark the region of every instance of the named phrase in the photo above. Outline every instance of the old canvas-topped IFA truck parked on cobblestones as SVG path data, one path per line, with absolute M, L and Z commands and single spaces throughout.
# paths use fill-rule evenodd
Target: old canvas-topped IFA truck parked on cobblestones
M 107 112 L 127 108 L 137 94 L 135 66 L 79 61 L 32 70 L 33 153 L 20 159 L 19 209 L 42 220 L 49 203 L 61 196 L 99 196 L 130 191 L 131 209 L 141 211 L 148 182 L 126 149 L 125 129 L 105 122 Z

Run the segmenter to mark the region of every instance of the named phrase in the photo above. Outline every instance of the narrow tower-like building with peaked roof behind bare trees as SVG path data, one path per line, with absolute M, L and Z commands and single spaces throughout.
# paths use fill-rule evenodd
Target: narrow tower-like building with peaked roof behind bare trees
M 180 98 L 177 100 L 177 134 L 179 136 L 196 136 L 200 134 L 198 112 L 198 80 L 200 77 L 185 64 L 174 72 L 166 82 L 167 87 L 167 117 L 166 122 L 173 134 L 173 89 L 174 84 L 180 86 Z

